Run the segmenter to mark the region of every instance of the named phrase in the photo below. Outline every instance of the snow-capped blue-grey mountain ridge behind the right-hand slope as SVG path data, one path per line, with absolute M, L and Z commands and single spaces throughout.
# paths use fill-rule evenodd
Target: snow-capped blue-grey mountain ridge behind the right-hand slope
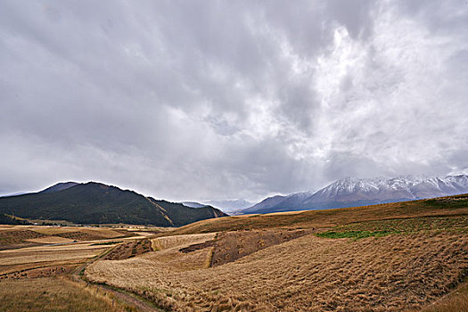
M 274 196 L 242 210 L 267 213 L 302 209 L 331 209 L 468 193 L 468 176 L 347 177 L 316 193 Z M 308 195 L 307 195 L 308 194 Z

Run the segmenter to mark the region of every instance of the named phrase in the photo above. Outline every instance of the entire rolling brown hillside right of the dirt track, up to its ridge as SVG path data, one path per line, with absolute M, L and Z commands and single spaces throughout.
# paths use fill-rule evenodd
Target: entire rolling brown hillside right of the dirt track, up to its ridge
M 467 201 L 204 220 L 85 275 L 174 311 L 463 311 Z

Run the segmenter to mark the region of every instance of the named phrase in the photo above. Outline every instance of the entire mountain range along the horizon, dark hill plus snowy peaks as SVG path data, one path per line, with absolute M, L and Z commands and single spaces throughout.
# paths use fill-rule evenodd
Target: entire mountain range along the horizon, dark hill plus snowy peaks
M 0 197 L 0 218 L 66 220 L 76 224 L 184 226 L 206 218 L 235 214 L 357 207 L 468 193 L 468 176 L 347 177 L 312 192 L 276 195 L 249 207 L 244 200 L 170 202 L 116 186 L 66 182 L 37 193 Z M 249 207 L 249 208 L 246 208 Z M 12 221 L 12 222 L 13 222 Z

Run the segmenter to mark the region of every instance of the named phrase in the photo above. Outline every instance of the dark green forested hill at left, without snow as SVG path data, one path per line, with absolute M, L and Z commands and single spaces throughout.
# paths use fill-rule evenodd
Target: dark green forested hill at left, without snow
M 154 226 L 183 226 L 205 218 L 226 216 L 212 207 L 193 209 L 168 201 L 155 201 L 133 191 L 94 182 L 53 193 L 0 198 L 0 213 L 20 218 L 67 220 L 77 224 Z

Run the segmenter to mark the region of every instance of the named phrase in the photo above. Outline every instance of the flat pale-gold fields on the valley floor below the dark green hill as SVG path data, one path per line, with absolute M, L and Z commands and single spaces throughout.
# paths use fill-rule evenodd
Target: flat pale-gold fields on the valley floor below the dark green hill
M 113 248 L 115 242 L 122 242 L 117 238 L 134 235 L 125 229 L 101 227 L 3 226 L 0 229 L 0 278 L 24 276 L 32 270 L 42 273 L 44 267 L 76 266 Z M 145 246 L 151 250 L 151 242 L 146 241 Z

